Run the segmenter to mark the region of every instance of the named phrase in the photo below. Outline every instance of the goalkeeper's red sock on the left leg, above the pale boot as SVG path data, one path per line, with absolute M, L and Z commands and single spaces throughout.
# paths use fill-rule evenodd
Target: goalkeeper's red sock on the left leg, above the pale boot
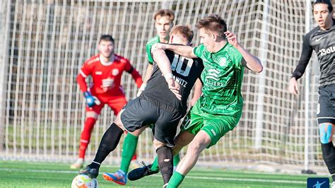
M 79 158 L 85 158 L 88 143 L 90 143 L 90 134 L 92 133 L 96 119 L 86 118 L 84 129 L 81 132 L 81 146 L 79 146 Z

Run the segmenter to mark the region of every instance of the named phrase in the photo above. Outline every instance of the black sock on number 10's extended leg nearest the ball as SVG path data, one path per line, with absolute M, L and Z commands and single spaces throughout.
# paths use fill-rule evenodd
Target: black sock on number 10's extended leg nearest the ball
M 97 154 L 95 154 L 95 158 L 93 163 L 90 163 L 90 168 L 100 168 L 100 164 L 105 160 L 107 155 L 110 154 L 119 144 L 120 138 L 123 134 L 123 130 L 120 129 L 117 124 L 112 123 L 110 128 L 105 131 L 105 134 L 102 136 L 100 141 L 100 145 L 98 148 Z

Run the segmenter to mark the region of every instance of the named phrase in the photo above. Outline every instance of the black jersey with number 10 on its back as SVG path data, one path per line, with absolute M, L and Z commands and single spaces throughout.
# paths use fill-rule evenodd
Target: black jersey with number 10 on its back
M 151 78 L 149 78 L 146 89 L 143 90 L 140 98 L 153 102 L 159 107 L 169 108 L 170 112 L 178 111 L 186 113 L 187 98 L 196 79 L 200 78 L 204 64 L 199 58 L 189 59 L 169 50 L 165 50 L 165 53 L 170 60 L 173 79 L 176 83 L 180 84 L 182 100 L 178 100 L 175 94 L 168 88 L 167 82 L 155 62 L 153 63 Z

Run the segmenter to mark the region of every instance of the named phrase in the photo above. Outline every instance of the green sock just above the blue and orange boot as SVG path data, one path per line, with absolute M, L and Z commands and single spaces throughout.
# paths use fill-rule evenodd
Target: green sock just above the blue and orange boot
M 126 174 L 129 170 L 131 158 L 136 152 L 137 141 L 139 141 L 139 136 L 132 134 L 127 134 L 126 138 L 124 138 L 120 170 L 123 170 Z

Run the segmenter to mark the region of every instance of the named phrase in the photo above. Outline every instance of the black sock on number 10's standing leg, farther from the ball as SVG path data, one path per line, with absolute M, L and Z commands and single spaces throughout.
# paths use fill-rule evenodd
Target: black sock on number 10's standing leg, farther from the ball
M 173 173 L 173 155 L 171 148 L 167 146 L 160 147 L 156 150 L 158 155 L 158 166 L 162 174 L 164 184 L 169 182 Z

